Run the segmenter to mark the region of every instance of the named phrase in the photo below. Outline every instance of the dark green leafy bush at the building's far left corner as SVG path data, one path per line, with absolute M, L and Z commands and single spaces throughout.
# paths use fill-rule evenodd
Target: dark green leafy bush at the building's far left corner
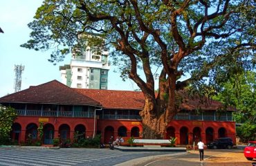
M 15 109 L 0 105 L 0 145 L 9 143 L 12 124 L 17 116 Z

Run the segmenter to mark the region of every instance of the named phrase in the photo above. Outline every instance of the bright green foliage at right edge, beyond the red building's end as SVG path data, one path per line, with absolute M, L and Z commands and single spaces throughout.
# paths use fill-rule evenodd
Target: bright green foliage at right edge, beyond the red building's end
M 227 82 L 221 83 L 222 89 L 215 100 L 226 106 L 237 109 L 234 113 L 236 122 L 256 123 L 256 73 L 253 71 L 230 77 Z

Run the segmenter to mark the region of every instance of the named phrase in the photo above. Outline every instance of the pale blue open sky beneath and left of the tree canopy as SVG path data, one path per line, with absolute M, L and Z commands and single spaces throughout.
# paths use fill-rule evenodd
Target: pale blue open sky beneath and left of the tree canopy
M 27 24 L 33 21 L 35 12 L 42 5 L 42 0 L 1 1 L 0 27 L 0 98 L 15 92 L 15 65 L 23 65 L 21 90 L 29 86 L 44 84 L 52 80 L 61 82 L 59 66 L 70 64 L 71 55 L 57 65 L 48 62 L 50 51 L 35 51 L 20 47 L 30 39 L 31 30 Z M 138 86 L 131 80 L 123 82 L 120 73 L 114 73 L 115 66 L 109 71 L 109 87 L 111 90 L 133 91 Z

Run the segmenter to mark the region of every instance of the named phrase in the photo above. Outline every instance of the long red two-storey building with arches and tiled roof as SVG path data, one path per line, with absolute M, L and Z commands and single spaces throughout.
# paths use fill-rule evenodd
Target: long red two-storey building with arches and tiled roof
M 217 111 L 221 103 L 214 100 L 208 104 L 196 99 L 184 101 L 167 126 L 166 139 L 176 137 L 178 145 L 191 145 L 199 138 L 209 142 L 230 137 L 235 142 L 232 109 Z M 73 140 L 75 131 L 85 137 L 100 133 L 102 142 L 108 142 L 111 136 L 143 137 L 139 111 L 144 95 L 138 91 L 71 89 L 53 80 L 3 96 L 0 104 L 19 113 L 12 126 L 12 139 L 19 142 L 29 133 L 37 139 L 39 122 L 44 122 L 44 144 L 53 144 L 53 138 Z

